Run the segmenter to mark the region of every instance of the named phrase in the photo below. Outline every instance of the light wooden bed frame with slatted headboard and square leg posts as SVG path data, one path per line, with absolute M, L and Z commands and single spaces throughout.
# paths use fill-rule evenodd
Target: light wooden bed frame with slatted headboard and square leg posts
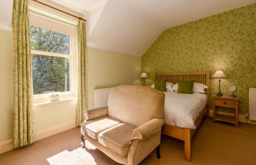
M 196 129 L 181 128 L 169 123 L 164 123 L 162 127 L 162 134 L 180 139 L 184 141 L 184 152 L 187 161 L 191 161 L 191 138 L 199 127 L 204 115 L 207 113 L 209 116 L 209 100 L 210 100 L 210 73 L 208 72 L 192 72 L 181 74 L 158 74 L 154 75 L 155 80 L 166 80 L 176 84 L 178 81 L 194 81 L 205 84 L 208 86 L 206 89 L 206 96 L 208 98 L 207 104 L 204 109 L 199 113 L 195 121 Z

